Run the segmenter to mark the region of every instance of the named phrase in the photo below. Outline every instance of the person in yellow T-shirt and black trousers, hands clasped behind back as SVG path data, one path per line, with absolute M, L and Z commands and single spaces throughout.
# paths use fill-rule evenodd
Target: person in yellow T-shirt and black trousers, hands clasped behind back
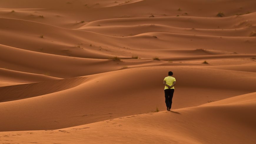
M 172 107 L 172 97 L 174 93 L 174 86 L 176 84 L 176 79 L 172 77 L 173 73 L 168 72 L 168 76 L 164 78 L 164 97 L 167 110 L 170 111 Z

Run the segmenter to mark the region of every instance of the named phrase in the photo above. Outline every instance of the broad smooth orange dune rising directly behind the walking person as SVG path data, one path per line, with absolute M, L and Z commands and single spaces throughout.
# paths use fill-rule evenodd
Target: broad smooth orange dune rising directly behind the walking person
M 87 76 L 86 81 L 81 81 L 79 86 L 76 86 L 79 84 L 77 81 L 69 80 L 69 85 L 76 87 L 67 90 L 62 87 L 68 88 L 68 83 L 58 82 L 64 80 L 26 84 L 23 93 L 16 93 L 22 91 L 23 85 L 8 86 L 0 89 L 6 95 L 2 99 L 8 100 L 6 98 L 9 94 L 12 98 L 23 98 L 26 95 L 35 97 L 2 102 L 0 114 L 5 117 L 0 122 L 6 125 L 1 127 L 1 131 L 58 129 L 147 113 L 156 106 L 165 110 L 162 80 L 170 68 L 178 81 L 173 99 L 174 109 L 198 106 L 207 101 L 255 91 L 252 85 L 256 81 L 255 73 L 172 66 L 100 73 Z M 52 88 L 55 93 L 49 93 L 49 86 L 62 88 L 63 91 L 58 92 Z M 44 93 L 49 94 L 42 95 Z

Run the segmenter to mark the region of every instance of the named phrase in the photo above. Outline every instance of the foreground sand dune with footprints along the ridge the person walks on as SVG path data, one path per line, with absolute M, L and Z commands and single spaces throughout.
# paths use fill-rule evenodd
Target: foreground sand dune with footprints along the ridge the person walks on
M 6 143 L 255 143 L 255 93 L 59 130 L 0 132 Z

